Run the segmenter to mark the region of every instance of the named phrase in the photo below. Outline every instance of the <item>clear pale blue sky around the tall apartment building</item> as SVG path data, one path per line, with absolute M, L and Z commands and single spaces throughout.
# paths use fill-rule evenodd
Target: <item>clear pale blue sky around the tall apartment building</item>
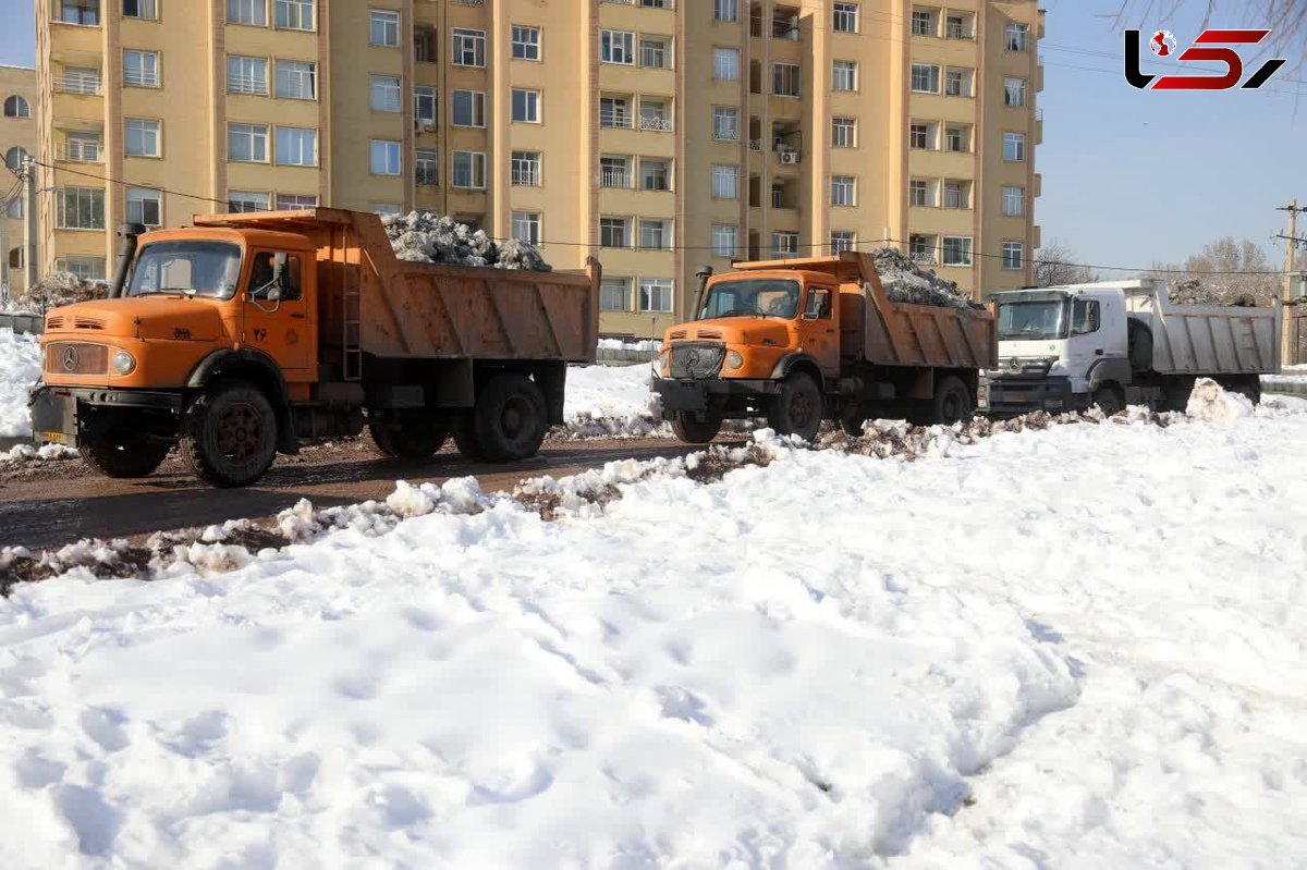
M 30 22 L 31 0 L 0 0 L 7 22 Z M 1286 205 L 1307 202 L 1307 71 L 1281 71 L 1259 91 L 1140 91 L 1121 76 L 1119 0 L 1044 0 L 1044 144 L 1036 149 L 1043 196 L 1035 219 L 1044 243 L 1060 242 L 1082 263 L 1148 266 L 1180 261 L 1222 235 L 1283 248 Z M 1146 5 L 1146 4 L 1138 4 Z M 1165 4 L 1170 5 L 1170 4 Z M 1200 8 L 1128 26 L 1175 33 L 1180 47 L 1197 37 Z M 1226 9 L 1242 4 L 1226 3 Z M 1212 26 L 1252 26 L 1240 14 Z M 33 27 L 0 30 L 0 63 L 33 64 Z M 1291 61 L 1293 63 L 1293 61 Z M 1249 64 L 1251 65 L 1251 64 Z M 1153 60 L 1145 72 L 1174 63 Z M 1274 90 L 1270 90 L 1274 89 Z

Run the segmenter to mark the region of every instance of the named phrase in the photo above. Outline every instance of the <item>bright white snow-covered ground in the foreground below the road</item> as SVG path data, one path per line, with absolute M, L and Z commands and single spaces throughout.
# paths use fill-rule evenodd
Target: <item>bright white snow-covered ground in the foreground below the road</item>
M 1307 866 L 1307 401 L 1209 410 L 21 585 L 0 866 Z

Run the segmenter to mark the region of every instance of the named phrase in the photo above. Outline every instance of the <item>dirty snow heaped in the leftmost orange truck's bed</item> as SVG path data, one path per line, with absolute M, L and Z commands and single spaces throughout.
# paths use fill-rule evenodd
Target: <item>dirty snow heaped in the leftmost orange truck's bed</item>
M 448 265 L 494 266 L 549 272 L 545 259 L 531 244 L 508 239 L 501 244 L 482 230 L 473 230 L 451 217 L 430 212 L 387 214 L 382 226 L 400 260 Z

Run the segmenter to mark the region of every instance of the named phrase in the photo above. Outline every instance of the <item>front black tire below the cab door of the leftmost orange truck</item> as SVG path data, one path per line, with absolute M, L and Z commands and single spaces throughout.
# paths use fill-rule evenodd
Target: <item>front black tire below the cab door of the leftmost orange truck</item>
M 213 486 L 248 486 L 277 457 L 277 415 L 263 392 L 240 380 L 221 381 L 191 402 L 178 452 L 196 477 Z

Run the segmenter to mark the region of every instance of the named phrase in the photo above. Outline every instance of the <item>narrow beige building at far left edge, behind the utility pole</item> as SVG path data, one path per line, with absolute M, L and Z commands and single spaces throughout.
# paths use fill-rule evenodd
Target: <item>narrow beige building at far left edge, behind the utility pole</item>
M 0 286 L 17 295 L 27 286 L 26 192 L 16 175 L 37 153 L 37 71 L 0 65 Z

